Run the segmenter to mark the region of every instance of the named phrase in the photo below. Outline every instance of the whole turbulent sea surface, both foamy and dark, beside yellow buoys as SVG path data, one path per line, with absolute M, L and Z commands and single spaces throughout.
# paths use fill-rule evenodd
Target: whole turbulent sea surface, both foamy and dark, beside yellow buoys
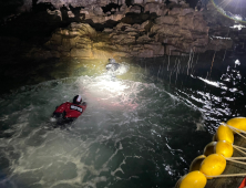
M 140 60 L 117 75 L 79 71 L 2 94 L 0 187 L 174 187 L 219 123 L 245 115 L 242 63 Z M 55 106 L 76 94 L 86 111 L 51 128 Z

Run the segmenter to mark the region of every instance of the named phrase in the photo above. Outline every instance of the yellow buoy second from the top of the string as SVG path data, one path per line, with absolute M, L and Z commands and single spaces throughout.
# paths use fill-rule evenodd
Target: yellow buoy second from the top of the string
M 226 140 L 228 143 L 234 143 L 234 135 L 229 127 L 226 125 L 221 125 L 216 132 L 217 140 Z

